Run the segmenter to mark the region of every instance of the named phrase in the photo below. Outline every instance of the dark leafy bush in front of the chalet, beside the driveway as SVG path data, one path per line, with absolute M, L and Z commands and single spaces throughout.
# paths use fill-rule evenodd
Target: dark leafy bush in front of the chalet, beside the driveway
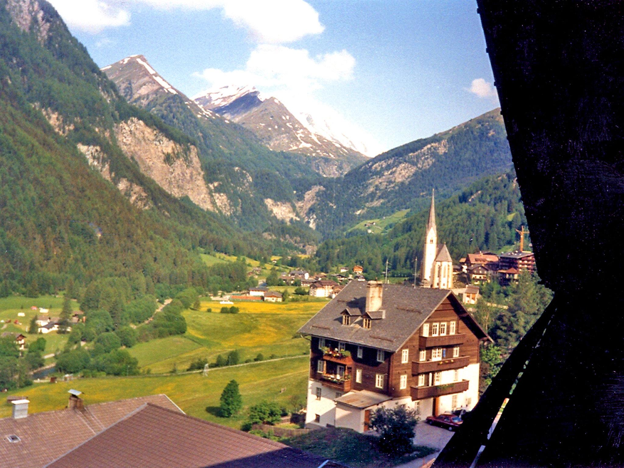
M 371 414 L 371 427 L 379 432 L 379 450 L 396 455 L 413 452 L 417 422 L 416 411 L 404 405 L 376 409 Z

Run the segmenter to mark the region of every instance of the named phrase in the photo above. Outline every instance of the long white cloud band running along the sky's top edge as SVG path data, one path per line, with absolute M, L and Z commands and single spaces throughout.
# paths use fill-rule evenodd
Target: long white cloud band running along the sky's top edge
M 51 0 L 70 27 L 97 34 L 107 27 L 130 24 L 130 4 L 171 11 L 218 8 L 250 37 L 266 44 L 293 42 L 320 34 L 318 12 L 304 0 Z

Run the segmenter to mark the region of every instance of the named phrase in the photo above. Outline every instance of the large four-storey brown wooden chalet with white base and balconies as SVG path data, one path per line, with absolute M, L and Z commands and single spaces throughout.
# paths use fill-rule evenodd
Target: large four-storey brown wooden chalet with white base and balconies
M 491 341 L 449 290 L 351 281 L 300 333 L 311 337 L 308 426 L 368 429 L 378 407 L 421 419 L 472 409 Z

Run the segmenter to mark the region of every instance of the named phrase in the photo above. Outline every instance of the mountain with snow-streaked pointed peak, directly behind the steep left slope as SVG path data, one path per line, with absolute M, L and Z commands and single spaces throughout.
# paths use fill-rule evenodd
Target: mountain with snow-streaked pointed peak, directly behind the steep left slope
M 291 182 L 320 178 L 314 161 L 323 158 L 268 149 L 241 125 L 202 109 L 160 76 L 144 56 L 126 57 L 102 71 L 131 104 L 157 115 L 195 142 L 203 181 L 170 175 L 170 180 L 177 180 L 178 191 L 188 190 L 189 183 L 193 190 L 203 185 L 214 200 L 213 207 L 206 208 L 215 208 L 248 230 L 298 221 Z M 150 167 L 142 165 L 142 170 L 149 172 Z M 303 223 L 301 227 L 306 228 Z

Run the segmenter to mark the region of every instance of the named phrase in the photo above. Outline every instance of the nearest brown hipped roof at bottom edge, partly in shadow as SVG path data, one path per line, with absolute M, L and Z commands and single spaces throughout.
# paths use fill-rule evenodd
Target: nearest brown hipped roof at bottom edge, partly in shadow
M 279 442 L 145 404 L 49 468 L 346 468 Z

